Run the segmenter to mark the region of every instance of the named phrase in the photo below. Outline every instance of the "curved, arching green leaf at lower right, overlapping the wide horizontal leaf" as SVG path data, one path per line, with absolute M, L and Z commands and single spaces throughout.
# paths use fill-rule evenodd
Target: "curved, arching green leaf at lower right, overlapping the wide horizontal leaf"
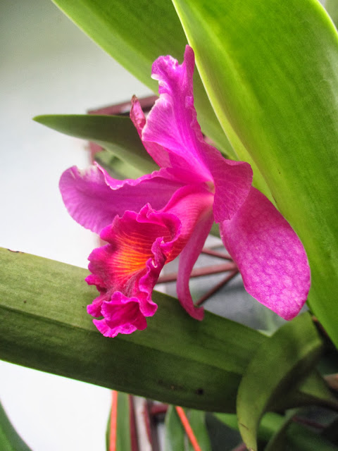
M 237 395 L 239 431 L 249 450 L 257 450 L 257 431 L 264 412 L 299 385 L 322 349 L 323 341 L 311 316 L 305 313 L 284 324 L 256 352 Z

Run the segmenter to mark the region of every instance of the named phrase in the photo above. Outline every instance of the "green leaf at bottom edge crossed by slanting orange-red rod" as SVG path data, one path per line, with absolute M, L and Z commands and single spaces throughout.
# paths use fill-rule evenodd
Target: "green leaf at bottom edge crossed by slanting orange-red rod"
M 211 451 L 211 443 L 206 428 L 206 412 L 185 410 L 189 424 L 201 450 Z M 182 421 L 175 407 L 169 406 L 165 415 L 165 451 L 194 451 L 192 443 L 184 431 Z

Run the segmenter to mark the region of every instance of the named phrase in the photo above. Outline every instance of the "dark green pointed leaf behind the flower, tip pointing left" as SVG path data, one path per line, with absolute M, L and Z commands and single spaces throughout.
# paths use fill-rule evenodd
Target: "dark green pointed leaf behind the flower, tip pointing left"
M 49 114 L 36 116 L 34 120 L 65 135 L 96 142 L 144 173 L 158 168 L 146 152 L 130 118 L 94 114 Z

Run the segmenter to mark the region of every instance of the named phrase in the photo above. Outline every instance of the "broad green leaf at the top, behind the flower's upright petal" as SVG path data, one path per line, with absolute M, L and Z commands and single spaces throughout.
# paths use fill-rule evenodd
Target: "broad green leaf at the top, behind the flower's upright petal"
M 170 1 L 53 0 L 96 44 L 144 85 L 158 92 L 151 65 L 161 55 L 182 61 L 187 38 Z M 220 149 L 234 155 L 196 73 L 196 109 L 202 130 Z M 137 94 L 132 92 L 132 94 Z

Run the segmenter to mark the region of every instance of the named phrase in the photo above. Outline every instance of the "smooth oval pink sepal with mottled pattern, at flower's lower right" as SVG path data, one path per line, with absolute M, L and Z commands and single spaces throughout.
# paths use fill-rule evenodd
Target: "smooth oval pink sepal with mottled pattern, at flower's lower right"
M 306 302 L 310 268 L 299 237 L 275 206 L 251 188 L 220 233 L 246 291 L 282 318 L 294 318 Z

